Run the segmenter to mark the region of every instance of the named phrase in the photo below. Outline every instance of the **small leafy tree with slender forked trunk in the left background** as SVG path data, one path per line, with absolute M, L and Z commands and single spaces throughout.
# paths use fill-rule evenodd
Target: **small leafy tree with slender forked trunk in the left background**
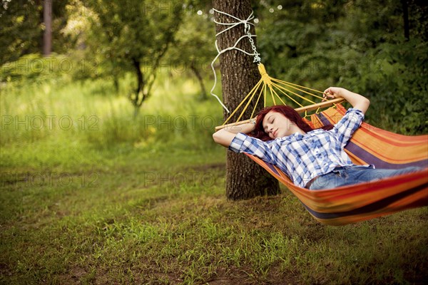
M 181 24 L 180 1 L 93 0 L 93 48 L 118 74 L 133 71 L 135 91 L 128 95 L 135 114 L 150 97 L 161 59 Z M 117 68 L 120 66 L 121 68 Z M 144 71 L 142 71 L 144 68 Z

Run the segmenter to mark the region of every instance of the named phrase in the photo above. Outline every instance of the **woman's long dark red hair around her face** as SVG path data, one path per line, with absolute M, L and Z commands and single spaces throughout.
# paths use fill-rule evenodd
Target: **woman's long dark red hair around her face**
M 252 133 L 252 136 L 254 138 L 259 138 L 260 140 L 263 140 L 263 141 L 272 140 L 272 138 L 270 138 L 270 136 L 267 135 L 267 133 L 265 133 L 265 129 L 263 128 L 263 119 L 265 118 L 265 115 L 270 111 L 285 115 L 285 117 L 288 118 L 288 120 L 292 121 L 292 123 L 295 123 L 297 127 L 299 127 L 305 133 L 310 132 L 311 130 L 314 130 L 310 125 L 308 125 L 302 119 L 302 117 L 300 117 L 299 113 L 297 113 L 295 109 L 285 105 L 275 105 L 275 106 L 264 108 L 258 113 L 257 119 L 255 121 L 255 128 Z M 333 128 L 332 125 L 325 125 L 321 129 L 331 130 L 332 128 Z

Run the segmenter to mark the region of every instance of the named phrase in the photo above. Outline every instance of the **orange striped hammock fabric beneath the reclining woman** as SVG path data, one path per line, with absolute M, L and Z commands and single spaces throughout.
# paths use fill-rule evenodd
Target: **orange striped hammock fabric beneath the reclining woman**
M 337 104 L 336 108 L 311 115 L 307 123 L 314 128 L 334 125 L 345 112 L 345 108 Z M 428 135 L 398 135 L 362 123 L 345 151 L 357 165 L 372 164 L 377 168 L 389 169 L 419 166 L 424 169 L 370 183 L 307 190 L 294 185 L 274 165 L 253 155 L 248 156 L 296 195 L 307 211 L 322 224 L 350 224 L 428 205 Z

